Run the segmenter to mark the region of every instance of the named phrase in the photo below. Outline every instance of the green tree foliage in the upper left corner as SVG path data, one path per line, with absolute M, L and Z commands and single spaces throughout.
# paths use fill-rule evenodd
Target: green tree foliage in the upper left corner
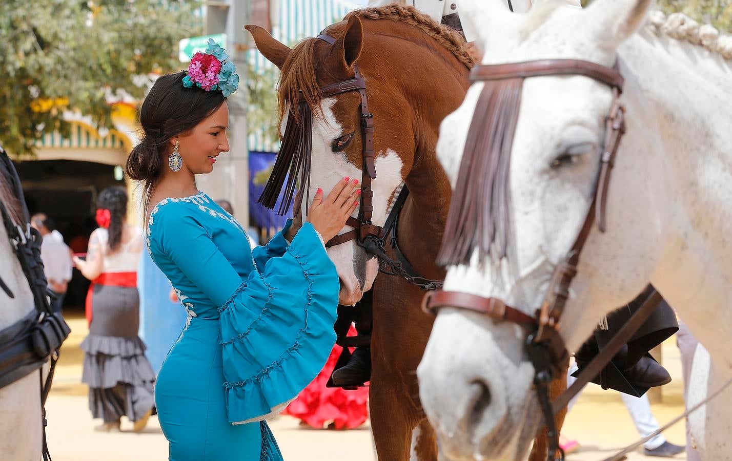
M 109 97 L 141 100 L 152 72 L 179 70 L 177 44 L 201 34 L 200 0 L 1 0 L 0 143 L 33 152 L 69 130 L 64 110 L 111 127 Z

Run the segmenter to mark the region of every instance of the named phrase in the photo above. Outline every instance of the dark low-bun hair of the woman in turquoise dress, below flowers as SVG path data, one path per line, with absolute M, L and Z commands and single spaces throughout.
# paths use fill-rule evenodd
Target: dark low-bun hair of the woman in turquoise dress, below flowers
M 144 181 L 143 208 L 168 164 L 168 141 L 192 130 L 211 116 L 226 100 L 221 91 L 183 86 L 185 72 L 163 75 L 155 80 L 140 110 L 144 136 L 127 157 L 127 176 Z

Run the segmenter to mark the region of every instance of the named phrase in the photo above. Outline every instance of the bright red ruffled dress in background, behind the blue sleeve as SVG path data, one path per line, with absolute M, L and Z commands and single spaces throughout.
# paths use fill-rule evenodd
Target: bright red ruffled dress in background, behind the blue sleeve
M 356 329 L 351 325 L 348 336 L 355 334 Z M 285 408 L 283 414 L 294 416 L 315 429 L 322 429 L 325 424 L 329 423 L 332 423 L 336 430 L 355 429 L 364 424 L 368 418 L 367 387 L 346 391 L 340 387 L 325 386 L 341 350 L 339 345 L 333 346 L 323 370 Z

